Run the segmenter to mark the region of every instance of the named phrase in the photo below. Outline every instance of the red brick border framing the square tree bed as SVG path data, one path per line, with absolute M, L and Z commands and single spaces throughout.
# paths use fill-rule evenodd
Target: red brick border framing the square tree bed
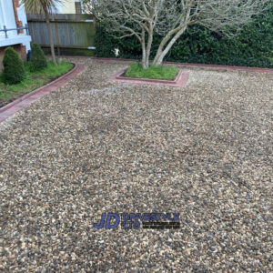
M 142 84 L 151 86 L 173 86 L 173 87 L 184 87 L 187 84 L 187 79 L 189 76 L 188 71 L 182 69 L 179 70 L 178 75 L 175 80 L 159 80 L 159 79 L 147 79 L 147 78 L 136 78 L 136 77 L 126 77 L 122 76 L 126 69 L 123 69 L 116 73 L 114 76 L 108 78 L 110 82 L 116 83 L 131 83 L 131 84 Z

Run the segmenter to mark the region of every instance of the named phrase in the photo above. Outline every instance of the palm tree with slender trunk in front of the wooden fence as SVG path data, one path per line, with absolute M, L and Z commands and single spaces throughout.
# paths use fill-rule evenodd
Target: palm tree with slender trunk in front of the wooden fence
M 21 3 L 25 5 L 25 10 L 27 13 L 45 15 L 52 61 L 56 65 L 54 41 L 50 26 L 50 15 L 56 12 L 56 4 L 62 4 L 63 0 L 21 0 Z

